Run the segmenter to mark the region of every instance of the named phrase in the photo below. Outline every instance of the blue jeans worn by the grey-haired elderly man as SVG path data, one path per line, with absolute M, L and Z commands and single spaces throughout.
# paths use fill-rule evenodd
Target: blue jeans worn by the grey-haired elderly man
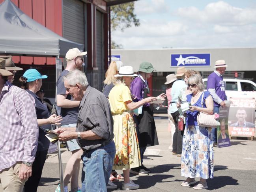
M 107 192 L 115 155 L 114 141 L 84 152 L 81 192 Z

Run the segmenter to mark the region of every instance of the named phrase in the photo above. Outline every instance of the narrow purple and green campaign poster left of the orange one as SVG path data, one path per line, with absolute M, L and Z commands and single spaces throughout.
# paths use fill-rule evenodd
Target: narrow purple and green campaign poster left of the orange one
M 219 121 L 220 126 L 217 127 L 217 141 L 218 141 L 218 147 L 229 147 L 230 144 L 230 138 L 228 133 L 228 112 L 229 112 L 229 106 L 222 107 L 220 106 L 219 110 Z

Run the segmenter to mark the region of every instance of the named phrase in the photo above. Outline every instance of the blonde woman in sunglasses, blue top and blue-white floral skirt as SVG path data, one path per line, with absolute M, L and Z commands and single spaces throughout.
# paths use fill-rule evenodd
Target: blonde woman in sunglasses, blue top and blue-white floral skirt
M 198 126 L 196 117 L 199 112 L 213 114 L 213 98 L 209 91 L 203 91 L 204 84 L 200 75 L 192 75 L 188 86 L 191 94 L 187 95 L 187 101 L 191 106 L 187 111 L 181 153 L 181 176 L 187 179 L 181 185 L 195 184 L 194 178 L 200 177 L 200 181 L 193 188 L 206 189 L 206 179 L 213 178 L 213 142 L 211 128 Z M 180 107 L 179 103 L 177 107 Z

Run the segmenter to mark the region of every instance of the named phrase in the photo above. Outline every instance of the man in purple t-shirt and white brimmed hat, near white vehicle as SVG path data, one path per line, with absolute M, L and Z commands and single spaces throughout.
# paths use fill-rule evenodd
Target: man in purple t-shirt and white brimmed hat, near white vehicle
M 226 65 L 224 60 L 218 60 L 215 62 L 214 68 L 216 68 L 216 70 L 208 76 L 207 91 L 209 91 L 213 96 L 214 113 L 219 113 L 220 106 L 224 107 L 224 100 L 227 99 L 225 93 L 225 83 L 222 77 L 222 75 L 225 73 L 226 67 L 228 67 L 228 65 Z M 217 129 L 212 128 L 211 133 L 213 135 L 213 142 L 215 143 L 214 145 L 217 145 Z

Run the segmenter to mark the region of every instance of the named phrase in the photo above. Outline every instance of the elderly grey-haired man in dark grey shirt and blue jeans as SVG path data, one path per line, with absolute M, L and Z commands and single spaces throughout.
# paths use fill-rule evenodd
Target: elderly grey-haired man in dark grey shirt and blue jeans
M 59 140 L 77 139 L 83 149 L 81 192 L 107 192 L 107 183 L 113 166 L 116 148 L 113 119 L 108 99 L 103 93 L 88 85 L 86 75 L 79 70 L 63 77 L 67 94 L 79 105 L 77 127 L 61 127 Z

